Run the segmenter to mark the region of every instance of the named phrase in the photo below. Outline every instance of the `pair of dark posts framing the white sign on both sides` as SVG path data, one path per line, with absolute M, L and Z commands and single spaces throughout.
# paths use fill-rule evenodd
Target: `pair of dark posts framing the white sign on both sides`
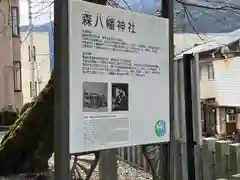
M 170 81 L 170 143 L 173 140 L 174 122 L 174 78 L 173 78 L 173 0 L 162 0 L 162 16 L 169 19 L 169 81 Z M 69 0 L 54 1 L 54 151 L 55 178 L 66 180 L 70 178 L 69 171 Z M 66 76 L 67 75 L 67 76 Z M 170 145 L 169 145 L 169 153 Z M 169 156 L 170 156 L 169 154 Z M 173 155 L 173 154 L 172 154 Z M 170 157 L 168 157 L 170 160 Z M 172 159 L 173 160 L 173 159 Z M 168 164 L 169 166 L 169 164 Z M 172 175 L 169 167 L 169 176 Z M 172 179 L 172 178 L 170 178 Z

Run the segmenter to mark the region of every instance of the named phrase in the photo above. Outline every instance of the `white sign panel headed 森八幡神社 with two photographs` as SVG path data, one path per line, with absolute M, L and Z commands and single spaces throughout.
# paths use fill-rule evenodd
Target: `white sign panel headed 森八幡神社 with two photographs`
M 70 153 L 169 141 L 168 20 L 84 1 L 70 12 Z

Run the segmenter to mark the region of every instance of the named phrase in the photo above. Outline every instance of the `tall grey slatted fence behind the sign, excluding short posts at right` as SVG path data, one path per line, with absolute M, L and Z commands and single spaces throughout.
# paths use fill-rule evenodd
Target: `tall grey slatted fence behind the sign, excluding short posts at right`
M 171 159 L 174 162 L 174 168 L 171 169 L 172 176 L 174 180 L 187 180 L 187 151 L 186 151 L 186 123 L 185 123 L 185 96 L 184 96 L 184 71 L 183 60 L 176 60 L 174 62 L 174 124 L 171 131 L 172 137 L 174 137 L 173 146 L 174 151 L 170 152 Z M 200 164 L 200 142 L 199 134 L 201 133 L 201 122 L 200 122 L 200 95 L 199 95 L 199 78 L 197 74 L 199 73 L 199 62 L 198 57 L 192 61 L 192 99 L 193 101 L 193 118 L 194 118 L 194 137 L 198 145 L 195 146 L 196 157 L 195 160 L 197 164 Z M 119 157 L 129 164 L 135 167 L 144 169 L 149 172 L 149 167 L 146 163 L 145 158 L 141 154 L 139 147 L 127 147 L 120 148 L 118 151 Z M 160 154 L 160 160 L 163 155 Z M 162 164 L 164 162 L 161 162 Z M 163 170 L 162 164 L 160 163 L 159 171 Z M 158 167 L 159 167 L 158 166 Z M 164 164 L 163 164 L 164 166 Z M 166 168 L 166 166 L 165 166 Z M 197 166 L 197 176 L 201 176 L 201 167 Z M 165 171 L 166 172 L 166 171 Z M 162 172 L 158 172 L 161 176 Z M 202 180 L 202 178 L 197 178 L 196 180 Z

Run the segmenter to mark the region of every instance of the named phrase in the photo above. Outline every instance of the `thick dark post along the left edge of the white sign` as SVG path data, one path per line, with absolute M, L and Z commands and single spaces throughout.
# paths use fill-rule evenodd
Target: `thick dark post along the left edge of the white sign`
M 69 158 L 69 1 L 54 1 L 55 179 L 70 179 Z

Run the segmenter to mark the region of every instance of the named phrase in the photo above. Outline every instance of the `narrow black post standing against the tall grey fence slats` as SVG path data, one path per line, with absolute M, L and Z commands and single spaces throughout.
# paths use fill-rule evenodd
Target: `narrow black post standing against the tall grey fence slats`
M 188 179 L 195 180 L 195 153 L 193 134 L 193 104 L 192 104 L 192 78 L 191 61 L 192 54 L 184 54 L 184 92 L 185 92 L 185 116 L 186 116 L 186 137 L 187 137 L 187 167 Z

